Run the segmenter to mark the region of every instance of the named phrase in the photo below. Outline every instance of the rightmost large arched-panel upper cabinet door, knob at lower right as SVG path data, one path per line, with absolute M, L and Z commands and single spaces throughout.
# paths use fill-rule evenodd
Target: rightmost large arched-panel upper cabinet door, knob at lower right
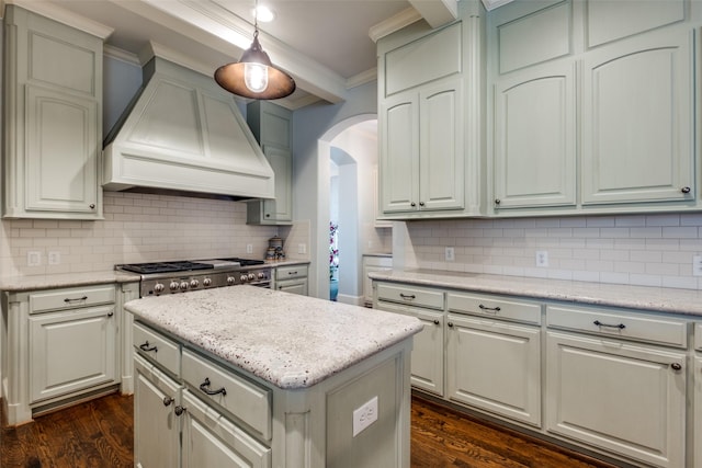
M 694 197 L 692 33 L 661 31 L 584 58 L 584 205 Z

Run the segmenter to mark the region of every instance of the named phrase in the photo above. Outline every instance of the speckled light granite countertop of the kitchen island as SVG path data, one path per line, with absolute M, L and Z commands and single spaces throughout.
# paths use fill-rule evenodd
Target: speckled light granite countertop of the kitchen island
M 412 317 L 254 286 L 131 300 L 125 309 L 284 388 L 306 388 L 422 329 Z

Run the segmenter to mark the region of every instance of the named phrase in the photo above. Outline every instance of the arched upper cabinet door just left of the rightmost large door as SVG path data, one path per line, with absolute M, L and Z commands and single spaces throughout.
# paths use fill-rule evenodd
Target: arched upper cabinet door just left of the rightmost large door
M 575 65 L 528 69 L 495 85 L 494 208 L 575 206 Z

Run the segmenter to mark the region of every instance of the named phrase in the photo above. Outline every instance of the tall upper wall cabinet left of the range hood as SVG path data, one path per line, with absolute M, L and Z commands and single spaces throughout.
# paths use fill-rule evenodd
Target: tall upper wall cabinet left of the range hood
M 101 219 L 102 38 L 9 4 L 5 218 Z

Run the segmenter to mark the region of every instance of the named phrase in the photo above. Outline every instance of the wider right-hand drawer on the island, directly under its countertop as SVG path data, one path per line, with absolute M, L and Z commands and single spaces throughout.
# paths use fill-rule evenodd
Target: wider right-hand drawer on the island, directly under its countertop
M 228 372 L 190 350 L 183 350 L 183 379 L 194 388 L 193 392 L 200 398 L 219 404 L 248 424 L 258 436 L 271 440 L 271 390 Z M 210 385 L 206 385 L 207 381 Z M 224 391 L 216 392 L 220 389 Z

